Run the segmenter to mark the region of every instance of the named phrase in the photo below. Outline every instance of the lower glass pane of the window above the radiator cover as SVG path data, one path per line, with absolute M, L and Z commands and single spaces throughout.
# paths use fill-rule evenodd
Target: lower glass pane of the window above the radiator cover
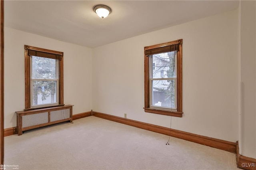
M 56 103 L 56 81 L 32 81 L 33 105 Z

